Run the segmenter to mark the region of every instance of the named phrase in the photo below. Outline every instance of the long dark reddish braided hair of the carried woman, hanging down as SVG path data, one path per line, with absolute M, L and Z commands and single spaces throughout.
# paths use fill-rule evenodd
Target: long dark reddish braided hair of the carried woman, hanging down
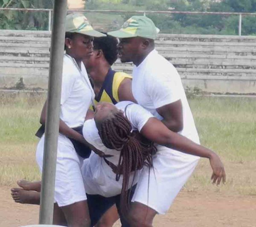
M 143 137 L 138 131 L 132 132 L 131 123 L 122 111 L 105 119 L 99 127 L 99 136 L 103 144 L 109 149 L 120 150 L 117 166 L 116 181 L 123 175 L 120 208 L 124 216 L 130 206 L 131 188 L 128 189 L 129 177 L 132 171 L 140 170 L 143 165 L 151 167 L 152 155 L 156 153 L 153 142 Z

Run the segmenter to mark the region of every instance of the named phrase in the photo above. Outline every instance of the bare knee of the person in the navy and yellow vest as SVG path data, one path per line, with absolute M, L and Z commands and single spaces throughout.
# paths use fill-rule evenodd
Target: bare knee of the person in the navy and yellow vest
M 118 219 L 116 205 L 113 205 L 104 213 L 95 227 L 112 227 Z

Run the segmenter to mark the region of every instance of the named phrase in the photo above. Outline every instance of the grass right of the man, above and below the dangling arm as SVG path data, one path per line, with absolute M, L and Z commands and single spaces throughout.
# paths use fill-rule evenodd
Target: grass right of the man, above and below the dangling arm
M 201 159 L 186 189 L 256 195 L 256 99 L 198 97 L 189 103 L 201 144 L 224 162 L 227 184 L 212 187 L 209 161 Z

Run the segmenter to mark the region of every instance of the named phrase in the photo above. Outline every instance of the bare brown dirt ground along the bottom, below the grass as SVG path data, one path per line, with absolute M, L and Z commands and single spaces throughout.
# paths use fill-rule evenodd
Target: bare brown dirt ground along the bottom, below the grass
M 39 206 L 12 201 L 9 187 L 0 187 L 0 226 L 37 224 Z M 156 227 L 255 227 L 256 196 L 183 191 L 169 213 L 155 218 Z M 115 225 L 120 226 L 119 224 Z

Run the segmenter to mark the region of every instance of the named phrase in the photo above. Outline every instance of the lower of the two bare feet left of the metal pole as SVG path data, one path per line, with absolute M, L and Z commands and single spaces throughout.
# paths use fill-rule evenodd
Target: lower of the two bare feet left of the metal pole
M 12 199 L 16 203 L 22 204 L 40 204 L 40 192 L 28 191 L 22 188 L 14 187 L 11 189 Z

